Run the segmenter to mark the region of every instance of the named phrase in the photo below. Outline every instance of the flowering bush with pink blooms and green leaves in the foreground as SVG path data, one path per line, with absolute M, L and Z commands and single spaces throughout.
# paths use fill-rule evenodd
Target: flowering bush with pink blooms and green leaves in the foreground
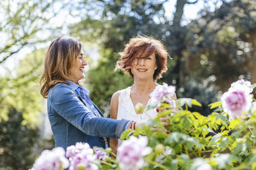
M 87 143 L 77 143 L 67 148 L 69 163 L 63 151 L 56 157 L 55 148 L 47 155 L 43 152 L 32 169 L 44 169 L 46 162 L 52 165 L 49 169 L 71 170 L 256 169 L 254 87 L 244 80 L 232 83 L 220 102 L 209 104 L 214 111 L 204 117 L 189 111 L 192 105 L 201 105 L 198 101 L 181 98 L 173 104 L 170 94 L 175 88 L 159 85 L 153 96 L 157 117 L 134 131 L 123 132 L 121 139 L 125 140 L 117 155 L 111 148 L 92 149 Z M 168 127 L 159 122 L 161 117 L 168 117 Z M 54 157 L 50 155 L 56 159 L 47 159 Z

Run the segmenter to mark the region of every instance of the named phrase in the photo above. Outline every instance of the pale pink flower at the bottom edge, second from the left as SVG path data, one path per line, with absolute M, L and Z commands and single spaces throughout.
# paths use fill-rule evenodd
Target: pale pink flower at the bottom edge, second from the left
M 93 149 L 88 143 L 77 142 L 76 145 L 68 146 L 66 156 L 70 160 L 70 170 L 76 170 L 77 167 L 89 170 L 98 169 L 93 163 L 96 156 L 93 155 Z

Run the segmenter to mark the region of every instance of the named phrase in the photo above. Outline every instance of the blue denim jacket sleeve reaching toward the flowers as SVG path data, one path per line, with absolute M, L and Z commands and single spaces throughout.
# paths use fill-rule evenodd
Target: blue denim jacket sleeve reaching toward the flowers
M 125 131 L 129 120 L 96 117 L 77 98 L 73 90 L 63 86 L 57 86 L 52 90 L 51 96 L 48 96 L 52 109 L 80 131 L 91 136 L 107 138 L 120 138 Z

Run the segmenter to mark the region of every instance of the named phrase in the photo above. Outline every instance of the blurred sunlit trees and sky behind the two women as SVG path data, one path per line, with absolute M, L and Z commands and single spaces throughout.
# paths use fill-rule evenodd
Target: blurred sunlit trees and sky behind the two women
M 114 71 L 129 39 L 152 36 L 172 59 L 158 83 L 203 104 L 202 115 L 232 81 L 256 82 L 256 0 L 0 1 L 0 169 L 29 169 L 52 149 L 38 80 L 47 46 L 79 36 L 88 66 L 84 86 L 109 117 L 113 92 L 132 85 Z

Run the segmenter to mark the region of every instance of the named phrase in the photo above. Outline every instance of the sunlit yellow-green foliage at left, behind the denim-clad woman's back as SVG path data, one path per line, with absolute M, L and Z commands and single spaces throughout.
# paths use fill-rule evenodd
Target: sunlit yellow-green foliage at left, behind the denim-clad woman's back
M 39 76 L 42 73 L 42 56 L 45 50 L 37 50 L 20 60 L 15 77 L 2 77 L 0 88 L 0 122 L 7 120 L 8 108 L 12 106 L 22 113 L 24 118 L 22 124 L 35 127 L 40 123 L 38 116 L 42 110 L 42 97 L 40 96 Z

